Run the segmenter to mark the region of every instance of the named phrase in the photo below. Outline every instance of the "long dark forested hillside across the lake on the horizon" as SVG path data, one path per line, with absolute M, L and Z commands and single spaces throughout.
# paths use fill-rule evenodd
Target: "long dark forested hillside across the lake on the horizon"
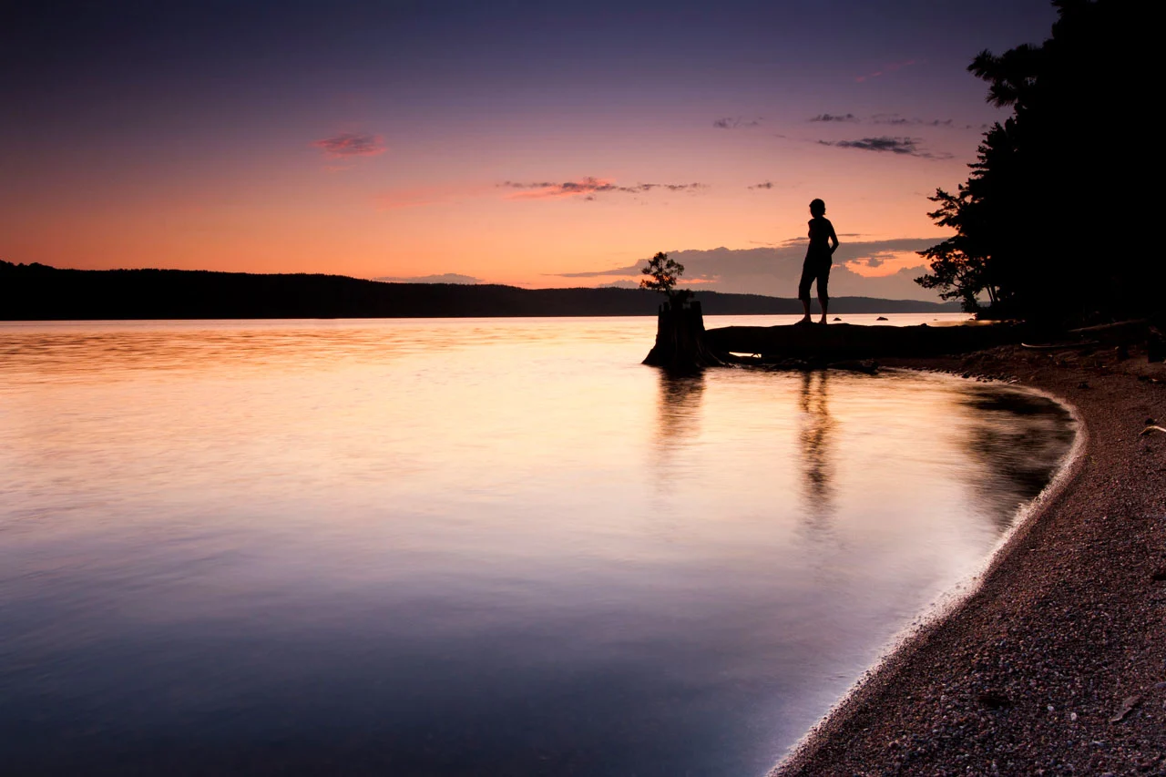
M 709 315 L 801 313 L 798 300 L 696 295 Z M 385 284 L 345 275 L 189 270 L 57 270 L 0 261 L 0 320 L 384 318 L 653 315 L 658 294 L 624 288 Z M 831 313 L 957 312 L 954 303 L 843 296 Z

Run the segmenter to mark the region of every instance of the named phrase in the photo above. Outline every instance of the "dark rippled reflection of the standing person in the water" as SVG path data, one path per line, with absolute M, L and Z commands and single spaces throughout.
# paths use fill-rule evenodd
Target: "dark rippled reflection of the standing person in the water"
M 830 373 L 828 370 L 802 373 L 798 393 L 801 426 L 798 453 L 801 463 L 801 491 L 808 525 L 823 528 L 834 513 L 834 432 L 830 415 Z

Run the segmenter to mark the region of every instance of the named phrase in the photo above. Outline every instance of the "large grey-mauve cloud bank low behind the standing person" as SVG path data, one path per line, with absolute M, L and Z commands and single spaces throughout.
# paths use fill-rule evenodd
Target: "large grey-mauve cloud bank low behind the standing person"
M 926 261 L 915 252 L 940 238 L 897 238 L 891 240 L 843 242 L 834 256 L 830 292 L 836 296 L 880 296 L 895 300 L 939 298 L 914 282 Z M 791 238 L 757 249 L 711 249 L 669 251 L 668 257 L 684 265 L 686 285 L 717 292 L 771 294 L 792 298 L 798 293 L 806 239 Z M 557 278 L 610 279 L 609 282 L 638 280 L 647 265 L 633 265 L 588 272 L 561 273 Z

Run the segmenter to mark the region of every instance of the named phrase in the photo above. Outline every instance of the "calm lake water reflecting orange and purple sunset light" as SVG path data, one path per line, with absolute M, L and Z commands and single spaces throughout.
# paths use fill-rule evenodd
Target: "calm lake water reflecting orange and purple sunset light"
M 654 326 L 0 324 L 5 769 L 759 776 L 1072 442 Z

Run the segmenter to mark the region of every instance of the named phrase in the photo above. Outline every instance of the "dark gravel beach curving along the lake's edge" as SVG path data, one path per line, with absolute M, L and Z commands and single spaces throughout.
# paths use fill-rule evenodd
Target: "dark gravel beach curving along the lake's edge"
M 772 777 L 1166 775 L 1166 365 L 998 348 L 887 366 L 1072 405 L 1080 457 L 954 611 L 911 636 Z

